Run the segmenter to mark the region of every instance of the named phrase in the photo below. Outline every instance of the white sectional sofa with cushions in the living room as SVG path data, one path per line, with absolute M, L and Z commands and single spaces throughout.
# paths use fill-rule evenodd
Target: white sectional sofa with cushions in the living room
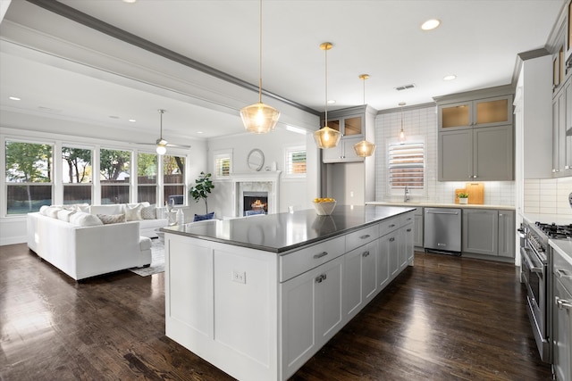
M 156 236 L 155 229 L 166 226 L 168 220 L 148 219 L 153 223 L 147 224 L 145 219 L 102 222 L 102 219 L 109 219 L 106 222 L 117 219 L 122 213 L 114 211 L 128 206 L 132 212 L 133 205 L 42 207 L 39 212 L 28 214 L 28 247 L 75 280 L 146 267 L 151 263 L 148 236 Z

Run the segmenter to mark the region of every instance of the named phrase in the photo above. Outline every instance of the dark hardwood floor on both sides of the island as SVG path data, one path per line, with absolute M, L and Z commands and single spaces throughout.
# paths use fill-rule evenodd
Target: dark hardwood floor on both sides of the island
M 164 274 L 76 283 L 0 246 L 0 380 L 231 380 L 164 335 Z M 416 253 L 292 380 L 550 380 L 514 266 Z

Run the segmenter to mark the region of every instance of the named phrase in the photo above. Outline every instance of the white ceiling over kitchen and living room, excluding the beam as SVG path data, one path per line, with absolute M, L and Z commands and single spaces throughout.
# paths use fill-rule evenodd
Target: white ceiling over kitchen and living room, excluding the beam
M 60 3 L 257 87 L 256 0 Z M 265 0 L 263 87 L 315 113 L 324 112 L 324 51 L 319 46 L 325 41 L 333 44 L 327 53 L 327 98 L 335 104 L 328 105 L 328 110 L 364 101 L 376 110 L 385 110 L 401 102 L 426 104 L 433 102 L 433 96 L 508 85 L 517 54 L 546 45 L 564 3 Z M 8 21 L 44 28 L 46 19 L 29 16 L 30 7 L 37 5 L 12 0 L 3 25 Z M 441 26 L 421 30 L 421 23 L 432 18 L 441 20 Z M 69 28 L 73 34 L 73 28 L 80 26 L 71 22 Z M 0 37 L 10 40 L 1 29 Z M 214 110 L 190 104 L 168 91 L 124 86 L 93 68 L 68 70 L 49 60 L 30 59 L 5 49 L 0 50 L 0 60 L 2 111 L 44 112 L 53 118 L 111 123 L 125 130 L 156 133 L 156 110 L 162 108 L 167 111 L 164 135 L 209 138 L 242 132 L 240 107 L 223 105 L 223 111 Z M 365 83 L 358 78 L 362 73 L 370 75 Z M 443 80 L 447 75 L 457 78 Z M 415 87 L 396 90 L 409 84 Z M 244 105 L 257 102 L 257 93 L 249 94 L 251 100 Z M 18 96 L 21 101 L 11 101 L 8 96 Z

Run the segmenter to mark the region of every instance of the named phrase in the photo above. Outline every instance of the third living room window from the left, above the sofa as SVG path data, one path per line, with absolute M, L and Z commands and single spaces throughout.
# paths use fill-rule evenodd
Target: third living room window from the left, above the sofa
M 101 149 L 99 175 L 102 204 L 130 202 L 130 157 L 129 151 Z

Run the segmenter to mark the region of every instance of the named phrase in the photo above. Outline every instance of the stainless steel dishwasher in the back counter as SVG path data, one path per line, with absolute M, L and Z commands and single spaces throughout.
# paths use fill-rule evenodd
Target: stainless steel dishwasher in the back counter
M 460 255 L 461 210 L 425 208 L 425 252 Z

